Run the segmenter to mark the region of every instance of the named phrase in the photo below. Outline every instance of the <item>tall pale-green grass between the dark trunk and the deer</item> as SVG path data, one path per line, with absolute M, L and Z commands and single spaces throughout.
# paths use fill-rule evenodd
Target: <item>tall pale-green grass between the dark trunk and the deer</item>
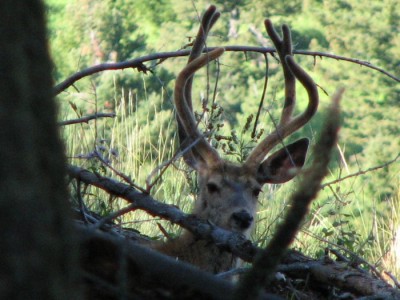
M 160 173 L 157 167 L 173 157 L 177 150 L 172 134 L 175 132 L 173 112 L 162 107 L 162 98 L 157 98 L 162 97 L 162 91 L 160 95 L 146 95 L 146 99 L 135 99 L 133 93 L 126 95 L 127 97 L 122 93 L 113 103 L 113 111 L 117 117 L 63 127 L 62 136 L 69 163 L 123 181 L 98 159 L 97 156 L 100 156 L 113 169 L 129 177 L 135 185 L 146 189 L 149 174 L 156 170 L 151 179 L 156 178 Z M 87 102 L 84 98 L 86 95 L 83 93 L 61 97 L 61 118 L 74 119 L 91 112 L 93 107 L 97 106 L 94 96 L 95 100 L 92 102 Z M 73 101 L 74 104 L 71 105 L 68 101 Z M 147 108 L 145 114 L 143 109 L 138 107 L 138 103 L 141 102 Z M 73 106 L 79 108 L 75 109 Z M 189 199 L 193 200 L 193 197 L 190 197 L 186 176 L 187 170 L 182 163 L 173 162 L 151 188 L 151 195 L 159 201 L 175 204 L 184 211 L 190 211 Z M 73 185 L 71 194 L 76 202 L 76 187 Z M 128 205 L 124 200 L 114 199 L 95 187 L 85 189 L 83 198 L 89 210 L 101 215 L 107 215 Z M 140 210 L 123 215 L 117 221 L 123 227 L 137 229 L 152 237 L 161 235 L 157 223 L 161 223 L 167 231 L 178 230 L 176 226 Z

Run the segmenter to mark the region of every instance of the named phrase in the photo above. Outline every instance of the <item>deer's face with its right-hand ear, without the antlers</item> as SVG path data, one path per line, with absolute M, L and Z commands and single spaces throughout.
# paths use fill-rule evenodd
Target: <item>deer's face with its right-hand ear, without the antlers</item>
M 258 168 L 222 162 L 198 167 L 200 193 L 194 214 L 219 227 L 249 236 L 257 198 L 265 183 L 284 183 L 303 166 L 308 140 L 301 139 L 269 156 Z

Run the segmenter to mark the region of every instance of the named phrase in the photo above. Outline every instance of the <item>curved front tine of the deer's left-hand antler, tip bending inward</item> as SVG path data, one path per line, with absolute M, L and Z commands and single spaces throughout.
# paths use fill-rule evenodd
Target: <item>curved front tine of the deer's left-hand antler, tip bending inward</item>
M 211 147 L 211 145 L 204 137 L 202 137 L 202 134 L 198 130 L 193 111 L 189 107 L 186 99 L 185 89 L 187 82 L 197 70 L 204 67 L 209 61 L 220 57 L 224 51 L 225 49 L 223 48 L 217 48 L 208 54 L 204 54 L 203 56 L 196 58 L 179 73 L 175 83 L 175 106 L 181 126 L 183 127 L 186 133 L 186 138 L 190 141 L 190 143 L 193 143 L 199 139 L 194 148 L 200 155 L 200 158 L 207 165 L 216 165 L 221 161 L 221 158 L 218 155 L 217 150 Z M 195 167 L 195 163 L 193 164 L 193 167 Z

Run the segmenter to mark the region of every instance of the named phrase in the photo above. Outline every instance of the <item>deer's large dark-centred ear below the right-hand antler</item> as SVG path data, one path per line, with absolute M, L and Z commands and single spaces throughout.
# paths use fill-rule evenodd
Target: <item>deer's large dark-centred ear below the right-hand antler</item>
M 287 145 L 263 161 L 257 171 L 260 183 L 284 183 L 293 179 L 302 168 L 307 155 L 307 138 Z

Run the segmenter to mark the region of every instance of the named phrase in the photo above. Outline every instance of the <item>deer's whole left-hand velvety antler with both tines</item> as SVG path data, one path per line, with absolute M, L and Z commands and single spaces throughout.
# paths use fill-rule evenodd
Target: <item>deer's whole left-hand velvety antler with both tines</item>
M 210 6 L 205 12 L 188 59 L 188 64 L 178 75 L 175 83 L 175 106 L 177 111 L 180 147 L 181 149 L 185 149 L 199 139 L 193 149 L 185 154 L 186 163 L 193 168 L 196 168 L 196 162 L 199 159 L 208 165 L 221 160 L 217 151 L 211 147 L 198 130 L 196 120 L 193 116 L 192 104 L 193 74 L 208 62 L 217 59 L 224 52 L 224 49 L 218 48 L 200 57 L 204 49 L 208 32 L 218 20 L 219 16 L 220 13 L 216 11 L 215 6 Z

